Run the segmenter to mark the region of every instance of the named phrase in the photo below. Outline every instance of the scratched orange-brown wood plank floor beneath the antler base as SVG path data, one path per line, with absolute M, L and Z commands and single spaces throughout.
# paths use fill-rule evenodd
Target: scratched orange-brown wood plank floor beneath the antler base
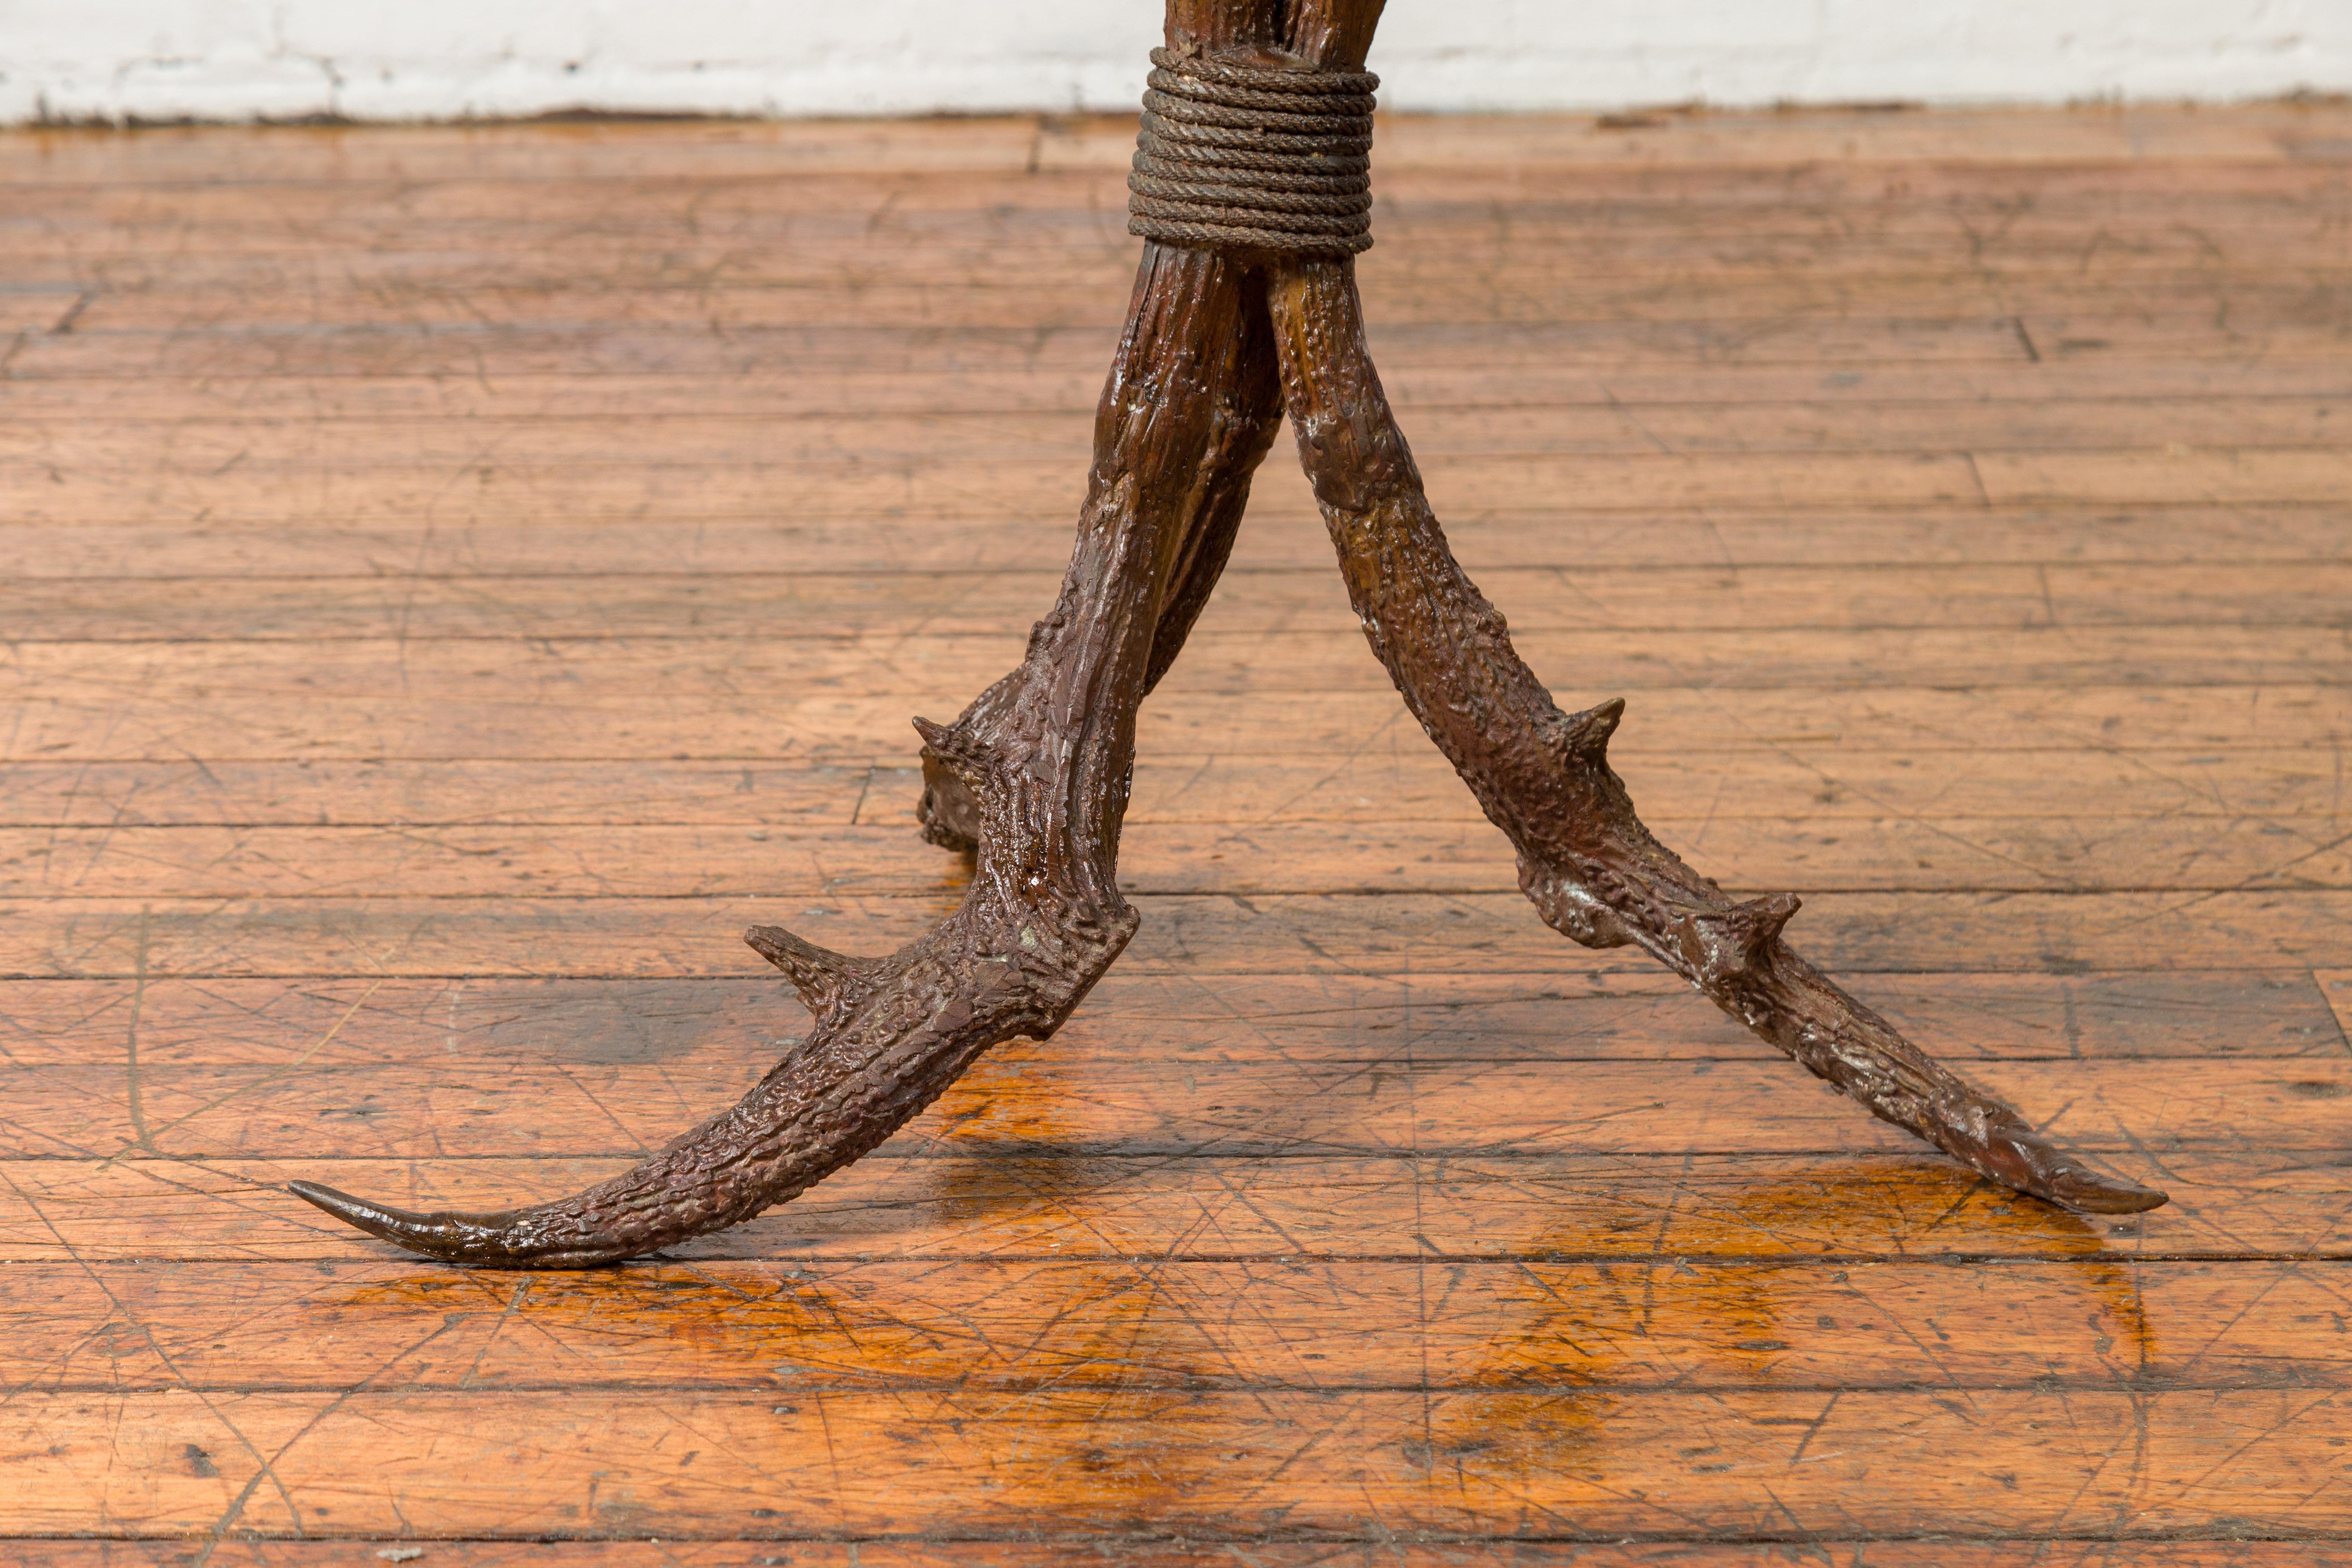
M 767 1218 L 550 1197 L 964 867 L 1131 127 L 0 136 L 0 1559 L 2352 1563 L 2352 108 L 1402 120 L 1374 348 L 1726 886 L 2084 1220 L 1545 931 L 1287 442 L 1145 926 Z

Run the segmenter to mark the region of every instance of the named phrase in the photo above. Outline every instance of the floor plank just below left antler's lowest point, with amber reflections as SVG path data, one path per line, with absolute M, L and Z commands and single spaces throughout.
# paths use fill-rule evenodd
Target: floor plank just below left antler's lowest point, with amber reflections
M 16 1265 L 0 1378 L 183 1389 L 2352 1385 L 2347 1262 Z M 365 1371 L 362 1371 L 365 1368 Z

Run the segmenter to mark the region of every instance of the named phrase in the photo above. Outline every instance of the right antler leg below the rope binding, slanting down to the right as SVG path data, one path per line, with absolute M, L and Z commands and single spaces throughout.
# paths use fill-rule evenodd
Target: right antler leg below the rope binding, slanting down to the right
M 1795 896 L 1738 903 L 1642 827 L 1606 762 L 1625 705 L 1559 712 L 1446 548 L 1364 348 L 1355 263 L 1284 263 L 1268 294 L 1298 454 L 1364 635 L 1510 835 L 1543 919 L 1588 947 L 1639 945 L 1875 1114 L 2006 1187 L 2093 1213 L 2161 1204 L 2058 1152 L 1797 957 L 1780 940 Z

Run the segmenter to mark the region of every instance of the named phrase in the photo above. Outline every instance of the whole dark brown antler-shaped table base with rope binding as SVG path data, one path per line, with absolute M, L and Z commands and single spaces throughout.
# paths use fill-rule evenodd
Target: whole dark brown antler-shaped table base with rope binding
M 1160 139 L 1148 129 L 1131 181 L 1138 233 L 1162 237 L 1145 240 L 1096 411 L 1061 599 L 1021 665 L 955 724 L 915 724 L 924 835 L 976 856 L 962 905 L 887 959 L 753 926 L 750 945 L 816 1016 L 811 1032 L 731 1110 L 579 1197 L 405 1213 L 310 1182 L 294 1192 L 452 1262 L 614 1262 L 804 1192 L 990 1046 L 1049 1037 L 1136 933 L 1117 886 L 1136 710 L 1216 585 L 1287 414 L 1374 654 L 1510 835 L 1548 924 L 1588 947 L 1642 947 L 1806 1070 L 2006 1187 L 2091 1213 L 2164 1201 L 2065 1157 L 1797 957 L 1780 940 L 1795 896 L 1733 900 L 1658 844 L 1609 769 L 1623 703 L 1562 712 L 1512 651 L 1446 548 L 1364 348 L 1352 252 L 1369 242 L 1367 200 L 1350 193 L 1369 78 L 1355 73 L 1378 12 L 1381 0 L 1169 0 L 1148 99 Z

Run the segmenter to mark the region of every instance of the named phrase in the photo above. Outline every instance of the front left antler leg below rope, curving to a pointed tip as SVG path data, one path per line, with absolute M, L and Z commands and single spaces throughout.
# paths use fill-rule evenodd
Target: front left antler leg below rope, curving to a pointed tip
M 753 926 L 746 940 L 816 1016 L 807 1041 L 734 1107 L 576 1197 L 409 1213 L 315 1182 L 289 1187 L 449 1262 L 616 1262 L 804 1192 L 898 1131 L 990 1046 L 1051 1034 L 1136 931 L 1112 865 L 1136 705 L 1164 623 L 1188 621 L 1204 592 L 1188 597 L 1192 562 L 1204 550 L 1223 559 L 1200 534 L 1230 534 L 1270 442 L 1263 315 L 1263 284 L 1244 268 L 1211 252 L 1145 247 L 1061 604 L 1037 623 L 1023 663 L 955 724 L 917 719 L 924 762 L 953 783 L 978 853 L 946 922 L 887 959 Z M 1131 397 L 1134 388 L 1145 393 Z

